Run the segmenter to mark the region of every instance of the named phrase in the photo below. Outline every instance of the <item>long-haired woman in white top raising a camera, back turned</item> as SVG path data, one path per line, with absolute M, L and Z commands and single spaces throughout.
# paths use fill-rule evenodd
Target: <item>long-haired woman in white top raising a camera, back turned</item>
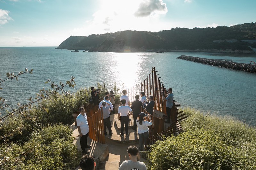
M 144 120 L 146 117 L 149 118 L 149 121 Z M 148 145 L 148 126 L 153 125 L 150 115 L 145 114 L 144 112 L 140 112 L 139 119 L 137 119 L 137 127 L 138 127 L 138 134 L 139 134 L 139 146 L 140 151 L 143 151 L 143 143 L 145 144 L 145 150 L 147 150 Z

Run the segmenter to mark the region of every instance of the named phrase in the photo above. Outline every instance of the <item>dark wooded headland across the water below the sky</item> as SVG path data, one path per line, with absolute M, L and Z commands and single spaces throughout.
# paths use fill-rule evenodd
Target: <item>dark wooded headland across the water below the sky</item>
M 242 40 L 254 40 L 243 42 Z M 254 42 L 254 43 L 253 43 Z M 160 32 L 121 31 L 101 35 L 70 36 L 56 49 L 101 52 L 168 52 L 173 50 L 255 53 L 256 23 L 216 28 L 172 28 Z

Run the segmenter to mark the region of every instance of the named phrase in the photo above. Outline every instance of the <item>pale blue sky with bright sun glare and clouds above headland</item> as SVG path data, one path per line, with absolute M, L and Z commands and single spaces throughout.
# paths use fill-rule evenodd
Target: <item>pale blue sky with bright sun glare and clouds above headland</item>
M 71 35 L 256 22 L 256 0 L 0 0 L 0 46 L 59 46 Z

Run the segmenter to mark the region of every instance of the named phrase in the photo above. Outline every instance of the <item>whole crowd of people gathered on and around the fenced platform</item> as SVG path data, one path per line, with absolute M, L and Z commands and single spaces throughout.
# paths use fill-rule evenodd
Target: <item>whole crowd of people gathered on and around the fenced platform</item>
M 104 124 L 104 134 L 107 135 L 107 129 L 108 133 L 111 136 L 113 134 L 111 129 L 111 122 L 110 122 L 110 115 L 115 114 L 115 93 L 110 90 L 110 92 L 105 93 L 105 97 L 102 101 L 100 101 L 100 89 L 96 89 L 94 87 L 91 87 L 91 96 L 92 101 L 94 105 L 97 105 L 99 108 L 102 108 L 102 115 L 103 115 L 103 124 Z M 124 127 L 125 127 L 125 137 L 129 136 L 128 132 L 128 125 L 129 121 L 131 121 L 130 116 L 133 115 L 133 127 L 132 130 L 138 131 L 139 135 L 139 149 L 140 151 L 148 150 L 147 149 L 147 141 L 149 136 L 149 129 L 148 126 L 153 126 L 153 122 L 151 120 L 151 116 L 153 115 L 155 101 L 153 100 L 153 96 L 149 96 L 147 101 L 147 97 L 145 96 L 145 92 L 140 92 L 139 95 L 135 95 L 135 101 L 132 102 L 132 106 L 130 107 L 130 100 L 127 95 L 127 90 L 122 91 L 123 95 L 120 97 L 121 106 L 118 107 L 118 120 L 121 124 L 121 133 L 120 136 L 124 137 Z M 164 91 L 162 92 L 163 99 L 166 100 L 166 114 L 167 114 L 167 120 L 165 123 L 171 123 L 170 117 L 171 117 L 171 110 L 172 110 L 172 103 L 173 103 L 173 94 L 172 94 L 172 88 L 168 89 L 168 93 L 166 94 Z M 140 98 L 140 100 L 139 100 Z M 145 108 L 149 114 L 145 114 L 144 112 L 140 112 L 141 107 Z M 87 137 L 89 133 L 89 125 L 87 121 L 87 116 L 85 114 L 85 110 L 83 107 L 79 109 L 80 114 L 76 118 L 77 122 L 77 129 L 80 136 L 80 145 L 82 149 L 82 153 L 88 154 L 89 151 L 87 149 L 90 149 L 91 146 L 87 145 Z M 147 121 L 149 119 L 149 121 Z M 145 147 L 143 146 L 145 145 Z M 138 155 L 138 148 L 136 146 L 130 146 L 127 149 L 128 155 L 130 160 L 124 161 L 121 166 L 119 167 L 119 170 L 122 169 L 134 169 L 139 167 L 139 169 L 146 169 L 146 166 L 144 163 L 141 163 L 137 161 L 136 157 Z M 87 168 L 84 169 L 95 169 L 96 163 L 94 162 L 93 158 L 84 155 L 80 162 L 80 167 L 85 167 L 84 165 L 88 164 Z M 89 166 L 90 164 L 90 166 Z M 82 168 L 83 169 L 83 168 Z

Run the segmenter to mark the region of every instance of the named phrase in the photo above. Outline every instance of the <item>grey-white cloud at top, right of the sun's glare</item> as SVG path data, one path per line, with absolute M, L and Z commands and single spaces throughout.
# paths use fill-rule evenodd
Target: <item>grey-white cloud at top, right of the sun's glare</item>
M 140 3 L 139 9 L 134 13 L 136 17 L 147 17 L 156 13 L 166 13 L 167 7 L 162 0 L 145 0 Z

